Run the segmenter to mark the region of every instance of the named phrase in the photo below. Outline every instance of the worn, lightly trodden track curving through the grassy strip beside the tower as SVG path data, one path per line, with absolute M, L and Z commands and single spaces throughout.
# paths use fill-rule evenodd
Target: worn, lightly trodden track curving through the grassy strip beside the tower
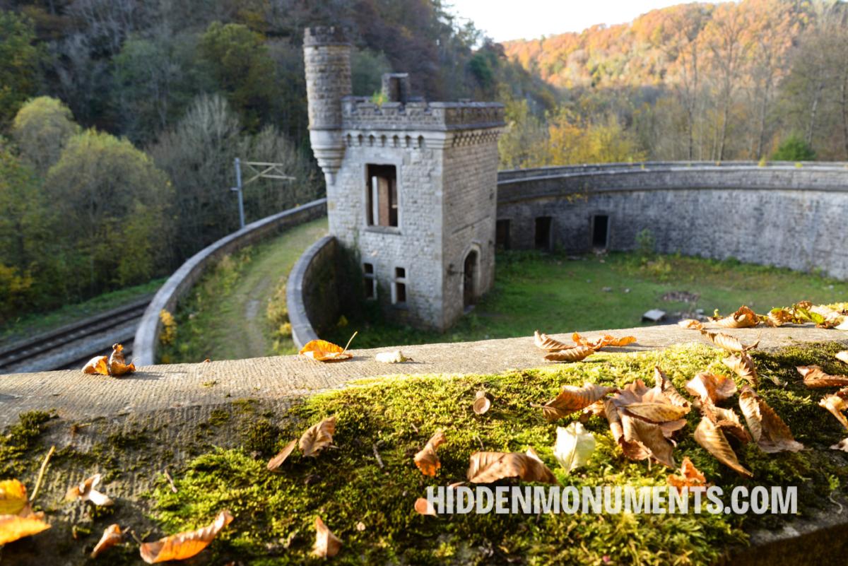
M 326 235 L 326 218 L 288 230 L 262 244 L 232 291 L 220 297 L 212 350 L 217 359 L 271 355 L 271 328 L 265 316 L 268 301 L 284 283 L 294 262 L 310 244 Z M 210 307 L 213 308 L 213 307 Z

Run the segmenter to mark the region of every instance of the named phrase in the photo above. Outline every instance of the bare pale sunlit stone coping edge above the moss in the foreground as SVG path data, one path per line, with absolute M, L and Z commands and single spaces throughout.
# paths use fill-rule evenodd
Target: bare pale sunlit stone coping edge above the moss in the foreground
M 762 349 L 803 342 L 842 341 L 848 333 L 812 325 L 724 330 L 745 342 L 760 337 Z M 584 333 L 592 338 L 604 331 Z M 615 336 L 636 336 L 629 347 L 611 352 L 641 352 L 689 342 L 707 343 L 694 330 L 677 325 L 606 330 Z M 553 335 L 570 341 L 569 334 Z M 354 341 L 355 344 L 355 341 Z M 122 378 L 86 375 L 81 370 L 0 376 L 0 427 L 14 423 L 19 413 L 55 410 L 62 419 L 92 419 L 203 407 L 238 398 L 267 401 L 302 397 L 353 380 L 385 375 L 492 374 L 548 365 L 532 337 L 401 347 L 414 361 L 379 363 L 374 355 L 397 347 L 352 350 L 354 358 L 337 363 L 299 356 L 278 356 L 209 363 L 142 365 Z M 591 358 L 588 360 L 591 361 Z

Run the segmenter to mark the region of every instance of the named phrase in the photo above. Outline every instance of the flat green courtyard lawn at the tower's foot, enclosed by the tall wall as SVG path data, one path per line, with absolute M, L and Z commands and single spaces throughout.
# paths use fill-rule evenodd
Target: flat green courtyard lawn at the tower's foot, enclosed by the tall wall
M 683 302 L 677 293 L 695 302 Z M 845 301 L 848 283 L 736 261 L 679 256 L 652 260 L 632 253 L 570 259 L 542 252 L 499 252 L 494 290 L 448 330 L 438 333 L 399 327 L 380 319 L 351 320 L 326 333 L 347 341 L 360 330 L 354 347 L 530 336 L 533 330 L 565 332 L 642 325 L 645 311 L 659 308 L 673 319 L 696 308 L 727 314 L 747 304 L 764 313 L 773 307 L 810 300 Z M 647 324 L 647 323 L 645 323 Z

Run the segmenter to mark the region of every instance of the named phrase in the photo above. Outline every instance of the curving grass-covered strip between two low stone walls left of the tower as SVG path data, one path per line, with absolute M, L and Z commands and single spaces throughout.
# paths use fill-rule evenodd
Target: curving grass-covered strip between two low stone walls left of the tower
M 269 318 L 269 304 L 285 316 L 288 272 L 325 234 L 326 219 L 318 219 L 223 258 L 181 303 L 175 314 L 176 339 L 160 348 L 160 360 L 202 362 L 296 352 L 290 336 Z

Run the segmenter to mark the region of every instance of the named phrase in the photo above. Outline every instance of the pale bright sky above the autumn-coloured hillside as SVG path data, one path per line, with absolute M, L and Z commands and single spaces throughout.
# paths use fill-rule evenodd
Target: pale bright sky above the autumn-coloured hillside
M 536 39 L 595 24 L 623 24 L 654 8 L 691 0 L 447 0 L 496 42 Z M 713 0 L 713 2 L 724 0 Z

